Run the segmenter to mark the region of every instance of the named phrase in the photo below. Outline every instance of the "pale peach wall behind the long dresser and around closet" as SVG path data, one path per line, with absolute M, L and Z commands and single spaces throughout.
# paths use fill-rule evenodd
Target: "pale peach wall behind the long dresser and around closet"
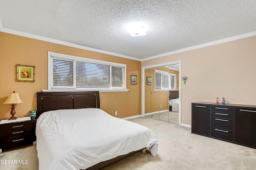
M 181 123 L 191 125 L 192 102 L 256 105 L 256 36 L 142 61 L 150 66 L 181 61 Z M 221 100 L 220 100 L 221 102 Z

